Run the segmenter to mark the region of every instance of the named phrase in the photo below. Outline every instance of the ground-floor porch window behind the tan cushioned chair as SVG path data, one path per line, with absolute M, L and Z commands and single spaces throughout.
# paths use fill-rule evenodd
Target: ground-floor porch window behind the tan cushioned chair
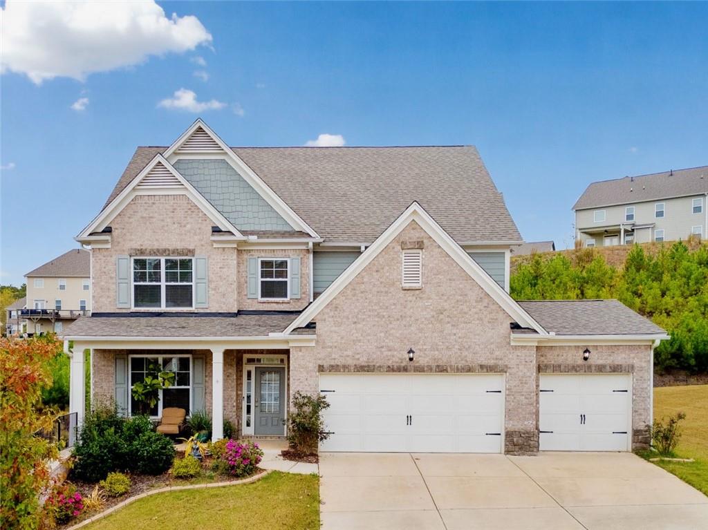
M 148 412 L 151 416 L 161 416 L 168 407 L 183 408 L 189 414 L 192 400 L 191 358 L 185 355 L 164 355 L 157 357 L 130 357 L 130 388 L 144 381 L 145 376 L 154 376 L 160 371 L 175 374 L 174 384 L 158 391 L 158 402 Z M 130 414 L 140 413 L 141 404 L 130 393 Z

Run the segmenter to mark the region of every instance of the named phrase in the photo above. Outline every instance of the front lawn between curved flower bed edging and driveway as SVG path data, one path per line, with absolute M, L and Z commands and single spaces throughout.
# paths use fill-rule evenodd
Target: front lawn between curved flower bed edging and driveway
M 158 493 L 86 526 L 130 528 L 319 530 L 319 478 L 273 471 L 246 485 Z

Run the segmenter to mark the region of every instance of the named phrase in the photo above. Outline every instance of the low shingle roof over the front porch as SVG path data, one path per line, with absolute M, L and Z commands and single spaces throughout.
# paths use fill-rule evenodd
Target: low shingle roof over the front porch
M 297 313 L 238 316 L 84 316 L 64 328 L 66 337 L 262 337 L 278 333 Z M 314 334 L 314 331 L 313 331 Z

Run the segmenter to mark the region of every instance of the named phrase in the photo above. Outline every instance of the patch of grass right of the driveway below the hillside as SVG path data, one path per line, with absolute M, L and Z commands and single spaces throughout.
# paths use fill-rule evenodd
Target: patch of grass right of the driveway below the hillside
M 654 389 L 654 417 L 660 420 L 686 413 L 676 456 L 695 462 L 658 461 L 656 465 L 708 495 L 708 385 L 664 386 Z M 644 452 L 644 458 L 656 456 Z

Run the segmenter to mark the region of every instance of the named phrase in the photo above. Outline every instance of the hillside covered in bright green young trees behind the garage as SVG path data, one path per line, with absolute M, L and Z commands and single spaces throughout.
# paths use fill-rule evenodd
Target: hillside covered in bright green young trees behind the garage
M 513 258 L 517 300 L 615 298 L 666 329 L 657 371 L 708 372 L 708 243 L 583 248 Z

